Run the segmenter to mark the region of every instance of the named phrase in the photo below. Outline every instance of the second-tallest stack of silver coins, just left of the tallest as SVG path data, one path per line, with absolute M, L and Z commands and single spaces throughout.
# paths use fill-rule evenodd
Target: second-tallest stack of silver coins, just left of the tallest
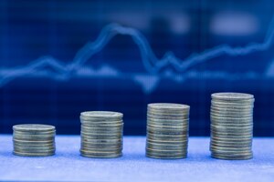
M 187 156 L 190 106 L 155 103 L 147 107 L 146 157 Z

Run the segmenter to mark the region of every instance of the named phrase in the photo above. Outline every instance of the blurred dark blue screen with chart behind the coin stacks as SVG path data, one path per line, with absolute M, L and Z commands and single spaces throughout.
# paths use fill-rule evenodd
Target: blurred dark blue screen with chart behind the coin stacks
M 79 113 L 124 114 L 145 135 L 146 106 L 191 106 L 209 136 L 210 95 L 253 94 L 254 136 L 274 136 L 270 0 L 0 1 L 0 133 L 43 123 L 79 134 Z

